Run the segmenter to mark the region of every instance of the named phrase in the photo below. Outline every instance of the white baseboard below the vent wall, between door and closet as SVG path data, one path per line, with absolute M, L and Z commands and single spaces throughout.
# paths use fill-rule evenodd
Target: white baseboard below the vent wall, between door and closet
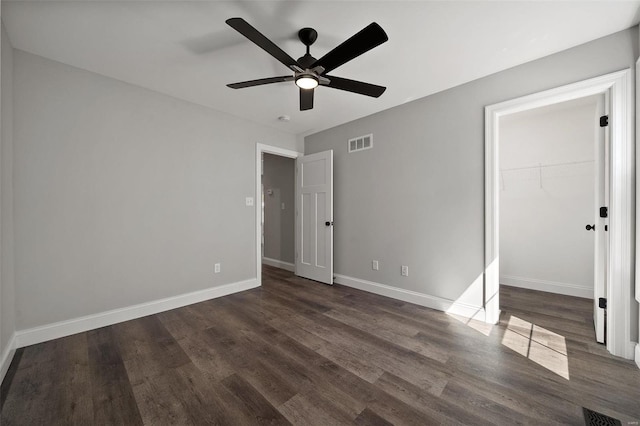
M 418 293 L 412 290 L 405 290 L 397 287 L 391 287 L 386 284 L 375 283 L 372 281 L 361 280 L 359 278 L 347 277 L 345 275 L 335 274 L 337 284 L 347 287 L 357 288 L 358 290 L 368 291 L 370 293 L 379 294 L 381 296 L 390 297 L 392 299 L 402 300 L 431 309 L 444 311 L 448 314 L 459 315 L 465 318 L 472 318 L 478 321 L 485 321 L 485 311 L 482 306 L 473 306 L 466 303 L 456 302 L 454 300 L 443 299 L 437 296 L 430 296 L 424 293 Z

